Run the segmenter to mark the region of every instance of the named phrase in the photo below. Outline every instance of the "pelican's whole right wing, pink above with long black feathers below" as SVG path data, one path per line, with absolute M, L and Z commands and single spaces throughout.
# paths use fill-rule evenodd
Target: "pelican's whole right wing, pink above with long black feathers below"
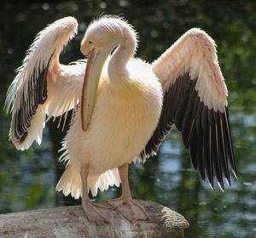
M 144 160 L 159 149 L 175 125 L 190 150 L 192 166 L 213 187 L 224 190 L 230 168 L 236 176 L 227 107 L 227 88 L 218 66 L 215 43 L 204 31 L 187 31 L 153 64 L 165 92 L 160 121 L 141 153 Z

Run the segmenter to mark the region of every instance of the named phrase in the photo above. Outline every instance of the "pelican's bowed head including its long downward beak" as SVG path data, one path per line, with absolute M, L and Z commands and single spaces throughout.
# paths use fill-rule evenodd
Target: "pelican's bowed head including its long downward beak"
M 81 52 L 87 55 L 84 85 L 81 99 L 82 128 L 86 130 L 96 101 L 96 89 L 102 75 L 102 68 L 114 48 L 133 39 L 134 48 L 137 34 L 125 20 L 119 17 L 103 16 L 88 26 L 81 42 Z

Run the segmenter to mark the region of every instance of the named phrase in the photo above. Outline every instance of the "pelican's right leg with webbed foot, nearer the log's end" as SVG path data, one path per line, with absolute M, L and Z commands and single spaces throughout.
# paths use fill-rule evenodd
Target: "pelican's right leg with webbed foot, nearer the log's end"
M 122 181 L 122 195 L 119 198 L 109 200 L 108 203 L 131 223 L 137 220 L 149 220 L 150 217 L 145 208 L 131 198 L 128 170 L 129 165 L 127 163 L 119 167 L 119 175 Z

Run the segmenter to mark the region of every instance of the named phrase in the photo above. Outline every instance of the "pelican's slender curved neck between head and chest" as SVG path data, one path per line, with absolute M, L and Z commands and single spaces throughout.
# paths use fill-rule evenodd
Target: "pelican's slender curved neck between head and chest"
M 109 81 L 114 87 L 119 86 L 124 81 L 129 80 L 129 71 L 126 68 L 127 62 L 136 51 L 136 38 L 129 32 L 123 37 L 123 41 L 119 47 L 114 51 L 108 63 L 108 77 Z

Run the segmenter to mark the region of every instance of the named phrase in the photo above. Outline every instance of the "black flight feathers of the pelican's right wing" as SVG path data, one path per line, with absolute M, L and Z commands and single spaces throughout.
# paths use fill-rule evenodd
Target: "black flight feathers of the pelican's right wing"
M 212 187 L 215 176 L 224 190 L 223 178 L 231 184 L 229 166 L 236 176 L 227 107 L 224 112 L 208 108 L 200 100 L 196 82 L 197 78 L 191 80 L 189 73 L 185 73 L 166 91 L 159 124 L 140 157 L 144 161 L 154 155 L 175 124 L 182 132 L 184 145 L 190 150 L 192 166 L 203 180 L 207 176 Z

